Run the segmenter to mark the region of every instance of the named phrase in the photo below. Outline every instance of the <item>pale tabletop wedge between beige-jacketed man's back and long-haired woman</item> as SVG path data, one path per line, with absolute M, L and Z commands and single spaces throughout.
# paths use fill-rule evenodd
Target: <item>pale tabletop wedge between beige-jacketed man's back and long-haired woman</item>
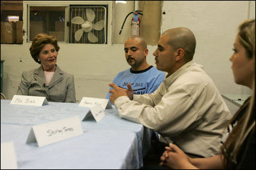
M 249 94 L 239 95 L 239 94 L 221 94 L 224 99 L 227 99 L 231 103 L 235 104 L 238 107 L 241 107 L 244 104 L 244 101 L 250 97 Z

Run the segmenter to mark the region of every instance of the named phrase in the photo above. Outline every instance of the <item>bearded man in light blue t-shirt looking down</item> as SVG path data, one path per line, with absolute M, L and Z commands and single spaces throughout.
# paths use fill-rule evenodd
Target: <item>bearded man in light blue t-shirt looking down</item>
M 147 63 L 147 43 L 141 36 L 130 36 L 124 44 L 125 59 L 130 69 L 118 73 L 113 83 L 122 89 L 127 89 L 131 83 L 134 94 L 150 94 L 154 92 L 164 80 L 165 74 Z M 109 99 L 110 93 L 106 99 Z

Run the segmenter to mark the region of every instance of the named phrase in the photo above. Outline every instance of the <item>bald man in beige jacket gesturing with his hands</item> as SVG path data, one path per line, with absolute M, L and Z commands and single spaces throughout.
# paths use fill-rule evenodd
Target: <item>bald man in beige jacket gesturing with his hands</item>
M 153 53 L 156 67 L 168 74 L 152 94 L 134 95 L 114 83 L 110 100 L 122 118 L 138 122 L 170 138 L 193 157 L 211 157 L 221 146 L 221 137 L 231 115 L 220 92 L 193 61 L 196 39 L 189 29 L 165 31 Z

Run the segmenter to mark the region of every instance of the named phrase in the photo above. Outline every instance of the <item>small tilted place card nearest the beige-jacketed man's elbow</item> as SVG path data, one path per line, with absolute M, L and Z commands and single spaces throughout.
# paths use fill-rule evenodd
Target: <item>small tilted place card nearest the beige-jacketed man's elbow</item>
M 83 120 L 86 120 L 87 118 L 93 117 L 97 122 L 100 122 L 102 118 L 105 117 L 104 110 L 101 107 L 101 104 L 96 104 L 93 108 L 90 108 L 90 111 L 87 113 L 87 115 L 83 118 Z

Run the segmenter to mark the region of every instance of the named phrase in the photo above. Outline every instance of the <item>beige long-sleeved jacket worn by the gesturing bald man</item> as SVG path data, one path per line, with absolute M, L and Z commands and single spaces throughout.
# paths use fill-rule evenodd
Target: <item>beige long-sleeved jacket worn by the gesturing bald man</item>
M 202 66 L 190 61 L 152 94 L 118 97 L 120 117 L 169 137 L 184 152 L 216 155 L 230 111 Z

